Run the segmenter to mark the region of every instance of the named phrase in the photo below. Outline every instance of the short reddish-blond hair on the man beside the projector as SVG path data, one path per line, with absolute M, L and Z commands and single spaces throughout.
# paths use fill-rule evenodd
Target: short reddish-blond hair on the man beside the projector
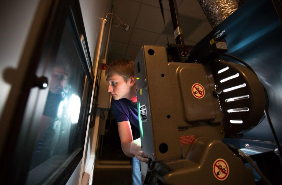
M 117 59 L 107 65 L 105 75 L 120 75 L 126 82 L 134 76 L 134 62 L 127 59 Z

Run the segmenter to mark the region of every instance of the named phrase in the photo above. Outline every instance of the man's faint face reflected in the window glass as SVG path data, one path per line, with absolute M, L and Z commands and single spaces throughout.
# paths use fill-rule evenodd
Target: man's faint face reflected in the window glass
M 50 91 L 58 94 L 62 91 L 63 87 L 67 84 L 68 71 L 63 67 L 56 66 L 53 68 L 52 79 L 50 84 Z

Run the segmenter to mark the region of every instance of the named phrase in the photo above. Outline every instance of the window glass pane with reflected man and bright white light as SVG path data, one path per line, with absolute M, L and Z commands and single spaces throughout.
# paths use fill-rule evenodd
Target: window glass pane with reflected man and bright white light
M 87 79 L 75 45 L 73 26 L 68 18 L 48 79 L 49 92 L 38 123 L 26 184 L 43 184 L 81 147 L 83 128 L 82 96 Z M 44 65 L 40 65 L 44 66 Z M 86 83 L 85 83 L 86 81 Z M 83 138 L 84 139 L 84 138 Z

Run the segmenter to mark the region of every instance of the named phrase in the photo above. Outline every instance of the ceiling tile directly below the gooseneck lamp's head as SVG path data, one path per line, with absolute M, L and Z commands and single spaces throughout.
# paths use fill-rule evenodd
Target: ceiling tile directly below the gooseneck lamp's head
M 115 23 L 113 23 L 112 25 L 111 36 L 110 36 L 111 40 L 128 43 L 133 28 L 129 29 L 129 31 L 125 31 L 122 26 L 118 26 L 115 28 L 115 26 L 117 25 L 118 24 Z

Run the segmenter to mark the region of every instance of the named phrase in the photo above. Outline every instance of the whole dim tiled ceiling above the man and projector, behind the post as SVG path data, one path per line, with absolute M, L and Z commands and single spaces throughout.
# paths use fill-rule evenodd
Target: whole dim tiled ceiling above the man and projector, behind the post
M 179 19 L 183 30 L 186 45 L 195 45 L 206 36 L 212 27 L 197 0 L 176 0 Z M 168 0 L 162 2 L 164 8 L 164 21 L 158 0 L 114 0 L 113 13 L 120 20 L 130 26 L 125 31 L 113 16 L 113 26 L 110 34 L 108 63 L 126 58 L 135 60 L 143 45 L 167 46 L 175 44 Z

